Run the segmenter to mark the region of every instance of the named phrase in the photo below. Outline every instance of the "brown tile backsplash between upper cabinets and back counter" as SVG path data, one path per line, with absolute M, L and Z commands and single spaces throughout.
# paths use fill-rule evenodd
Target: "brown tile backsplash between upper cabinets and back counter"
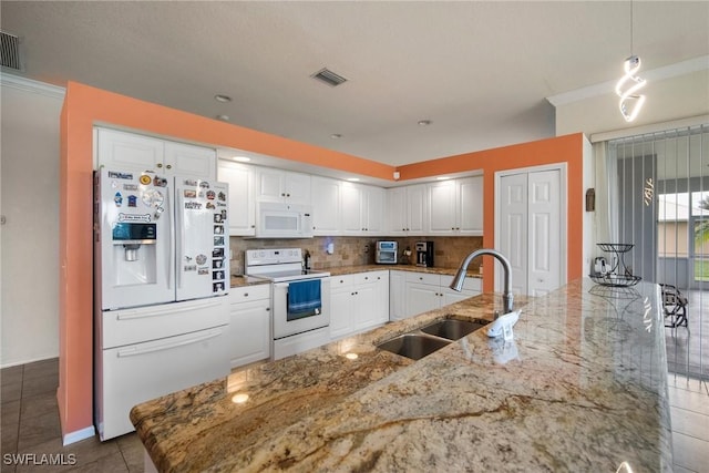
M 373 265 L 378 240 L 394 240 L 399 243 L 399 260 L 403 250 L 409 247 L 415 253 L 417 241 L 433 241 L 433 263 L 436 267 L 456 268 L 470 253 L 482 248 L 482 237 L 314 237 L 302 239 L 246 239 L 230 237 L 232 260 L 229 269 L 233 275 L 244 273 L 244 251 L 258 248 L 301 248 L 304 253 L 310 251 L 314 269 L 329 269 L 342 266 Z M 335 246 L 332 255 L 326 253 L 329 243 Z M 476 258 L 477 259 L 477 258 Z M 415 255 L 411 257 L 411 264 L 415 264 Z M 480 260 L 474 260 L 470 269 L 476 270 Z

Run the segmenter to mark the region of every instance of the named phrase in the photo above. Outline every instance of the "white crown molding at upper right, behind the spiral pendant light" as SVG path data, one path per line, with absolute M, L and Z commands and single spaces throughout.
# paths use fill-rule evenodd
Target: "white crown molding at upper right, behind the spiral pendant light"
M 692 72 L 709 70 L 709 54 L 689 59 L 687 61 L 677 62 L 675 64 L 657 68 L 641 72 L 643 79 L 648 82 L 662 81 L 665 79 L 676 78 L 679 75 L 690 74 Z M 578 102 L 607 93 L 614 93 L 617 79 L 613 81 L 602 82 L 599 84 L 588 85 L 561 94 L 547 96 L 546 100 L 554 106 L 566 105 L 568 103 Z

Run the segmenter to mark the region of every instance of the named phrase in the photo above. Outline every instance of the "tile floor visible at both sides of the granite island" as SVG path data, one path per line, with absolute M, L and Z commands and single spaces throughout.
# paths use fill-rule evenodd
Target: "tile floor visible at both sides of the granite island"
M 100 442 L 61 444 L 56 405 L 58 360 L 0 370 L 2 388 L 1 472 L 142 472 L 143 448 L 133 434 Z M 709 383 L 670 373 L 675 473 L 709 472 Z M 59 466 L 8 464 L 7 454 L 42 454 L 63 460 Z M 60 456 L 63 455 L 63 456 Z M 24 456 L 29 459 L 28 456 Z M 47 456 L 44 459 L 48 459 Z M 47 460 L 45 460 L 47 461 Z

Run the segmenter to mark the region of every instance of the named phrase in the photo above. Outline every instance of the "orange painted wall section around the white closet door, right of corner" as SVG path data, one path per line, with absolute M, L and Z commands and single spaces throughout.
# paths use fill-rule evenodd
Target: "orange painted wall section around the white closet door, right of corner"
M 583 266 L 583 134 L 577 133 L 518 145 L 442 157 L 398 168 L 401 179 L 483 169 L 483 247 L 495 241 L 495 172 L 545 164 L 566 163 L 567 173 L 567 279 L 582 277 Z M 494 260 L 485 258 L 483 290 L 494 288 Z

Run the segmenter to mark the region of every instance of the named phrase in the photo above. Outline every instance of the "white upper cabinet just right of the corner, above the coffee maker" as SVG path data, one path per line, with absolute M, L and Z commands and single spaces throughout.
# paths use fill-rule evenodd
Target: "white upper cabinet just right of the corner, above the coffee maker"
M 427 186 L 418 184 L 387 191 L 387 234 L 423 235 Z

